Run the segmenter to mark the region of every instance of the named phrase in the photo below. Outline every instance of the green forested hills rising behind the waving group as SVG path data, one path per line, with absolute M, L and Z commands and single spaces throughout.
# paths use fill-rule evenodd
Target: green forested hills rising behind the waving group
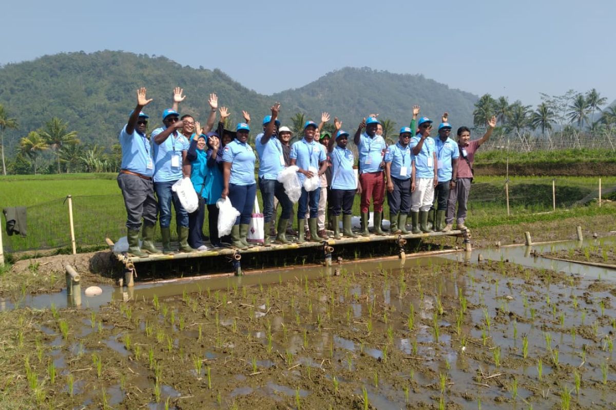
M 315 73 L 315 75 L 320 73 Z M 392 74 L 368 68 L 344 68 L 320 77 L 304 87 L 273 96 L 261 95 L 233 81 L 219 69 L 181 66 L 165 57 L 101 51 L 60 53 L 34 61 L 0 68 L 0 104 L 9 116 L 17 117 L 18 132 L 7 130 L 7 154 L 14 154 L 18 137 L 43 127 L 51 117 L 68 121 L 83 143 L 110 147 L 135 104 L 135 90 L 145 85 L 154 98 L 145 111 L 150 129 L 160 124 L 161 111 L 171 104 L 174 86 L 184 87 L 184 113 L 205 120 L 208 95 L 216 92 L 222 105 L 240 119 L 241 109 L 249 111 L 258 124 L 274 100 L 283 103 L 282 120 L 303 112 L 318 121 L 321 111 L 355 125 L 368 112 L 379 112 L 396 126 L 407 124 L 411 106 L 422 114 L 439 117 L 449 111 L 456 124 L 472 124 L 475 95 L 449 89 L 447 85 L 420 75 Z M 289 124 L 290 125 L 290 124 Z

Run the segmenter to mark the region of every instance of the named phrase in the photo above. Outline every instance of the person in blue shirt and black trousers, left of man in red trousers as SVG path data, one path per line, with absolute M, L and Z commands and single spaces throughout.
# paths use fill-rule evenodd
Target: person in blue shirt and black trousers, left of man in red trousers
M 334 227 L 334 239 L 340 239 L 340 211 L 342 209 L 342 232 L 344 237 L 357 237 L 351 229 L 351 219 L 353 217 L 353 201 L 357 192 L 357 181 L 355 181 L 355 157 L 353 151 L 347 148 L 349 143 L 349 133 L 340 128 L 342 122 L 334 118 L 336 127 L 336 138 L 328 143 L 331 162 L 331 189 L 330 189 L 330 210 Z M 336 146 L 334 147 L 334 143 Z

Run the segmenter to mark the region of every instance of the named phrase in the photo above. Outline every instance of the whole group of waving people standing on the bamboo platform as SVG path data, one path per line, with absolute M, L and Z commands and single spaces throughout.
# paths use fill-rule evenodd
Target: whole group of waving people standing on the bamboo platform
M 340 239 L 342 235 L 355 237 L 357 234 L 352 231 L 355 194 L 360 195 L 360 234 L 370 235 L 369 215 L 373 202 L 373 232 L 386 235 L 382 228 L 386 191 L 389 234 L 408 234 L 408 216 L 413 234 L 431 232 L 432 229 L 450 231 L 456 204 L 457 228 L 466 229 L 464 220 L 473 178 L 474 153 L 490 138 L 496 125 L 496 119 L 492 118 L 485 135 L 474 141 L 470 140 L 469 128 L 460 127 L 456 142 L 450 138 L 452 125 L 445 112 L 438 135 L 431 138 L 432 120 L 428 117 L 418 120 L 419 106 L 413 106 L 410 125 L 400 129 L 397 143 L 387 146 L 378 114 L 370 114 L 360 122 L 353 136 L 359 157 L 356 160 L 354 152 L 347 147 L 350 134 L 342 130 L 341 120 L 334 118 L 333 135 L 323 131 L 323 126 L 330 120 L 327 112 L 322 113 L 320 124 L 306 121 L 302 138 L 291 144 L 293 133 L 290 128 L 281 126 L 278 120 L 280 104 L 275 103 L 271 114 L 262 121 L 262 130 L 254 139 L 253 150 L 248 143 L 251 120 L 248 112 L 242 112 L 245 122 L 237 124 L 235 130 L 227 130 L 224 124 L 230 115 L 229 110 L 219 108 L 216 94 L 211 94 L 208 101 L 211 110 L 201 128 L 200 122 L 192 116 L 180 116 L 179 104 L 185 96 L 179 88 L 174 89 L 172 107 L 163 111 L 163 127 L 153 130 L 148 138 L 148 116 L 142 110 L 152 99 L 148 99 L 146 93 L 145 88 L 137 90 L 137 106 L 119 136 L 122 164 L 118 185 L 128 214 L 129 253 L 135 256 L 160 253 L 153 243 L 157 216 L 163 253 L 175 252 L 171 247 L 169 229 L 171 203 L 176 211 L 177 251 L 208 249 L 208 236 L 203 232 L 206 209 L 212 246 L 248 247 L 247 237 L 257 191 L 254 175 L 257 156 L 266 246 L 270 245 L 272 235 L 278 243 L 289 243 L 288 234 L 297 235 L 297 242 L 328 239 L 326 215 L 334 239 Z M 218 127 L 213 131 L 218 112 Z M 297 167 L 301 185 L 297 232 L 291 227 L 293 201 L 284 184 L 278 180 L 280 173 L 288 167 Z M 187 213 L 177 192 L 172 189 L 182 178 L 190 178 L 198 196 L 198 208 L 192 213 Z M 310 184 L 305 184 L 305 181 Z M 430 226 L 429 211 L 435 197 L 436 213 Z M 230 235 L 220 237 L 216 203 L 226 198 L 240 216 Z M 278 206 L 281 214 L 276 224 Z

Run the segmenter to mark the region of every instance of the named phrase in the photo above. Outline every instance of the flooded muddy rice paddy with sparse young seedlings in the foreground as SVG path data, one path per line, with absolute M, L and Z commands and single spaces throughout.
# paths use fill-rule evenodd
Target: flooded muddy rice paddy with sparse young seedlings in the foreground
M 15 342 L 31 345 L 25 388 L 42 408 L 612 409 L 616 271 L 542 255 L 607 249 L 614 264 L 615 245 L 383 258 L 103 286 L 80 308 L 64 291 L 1 306 L 32 328 L 15 328 Z

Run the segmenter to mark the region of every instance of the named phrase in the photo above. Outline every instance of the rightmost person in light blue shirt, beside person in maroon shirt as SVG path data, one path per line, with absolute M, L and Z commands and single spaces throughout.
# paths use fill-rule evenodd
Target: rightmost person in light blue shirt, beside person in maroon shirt
M 449 138 L 452 132 L 452 125 L 447 122 L 447 112 L 443 114 L 439 124 L 439 136 L 435 138 L 436 160 L 437 160 L 437 179 L 438 183 L 434 189 L 434 196 L 437 201 L 436 217 L 434 218 L 434 231 L 440 232 L 447 212 L 447 199 L 449 191 L 455 187 L 456 173 L 458 171 L 458 158 L 460 150 L 458 143 Z

